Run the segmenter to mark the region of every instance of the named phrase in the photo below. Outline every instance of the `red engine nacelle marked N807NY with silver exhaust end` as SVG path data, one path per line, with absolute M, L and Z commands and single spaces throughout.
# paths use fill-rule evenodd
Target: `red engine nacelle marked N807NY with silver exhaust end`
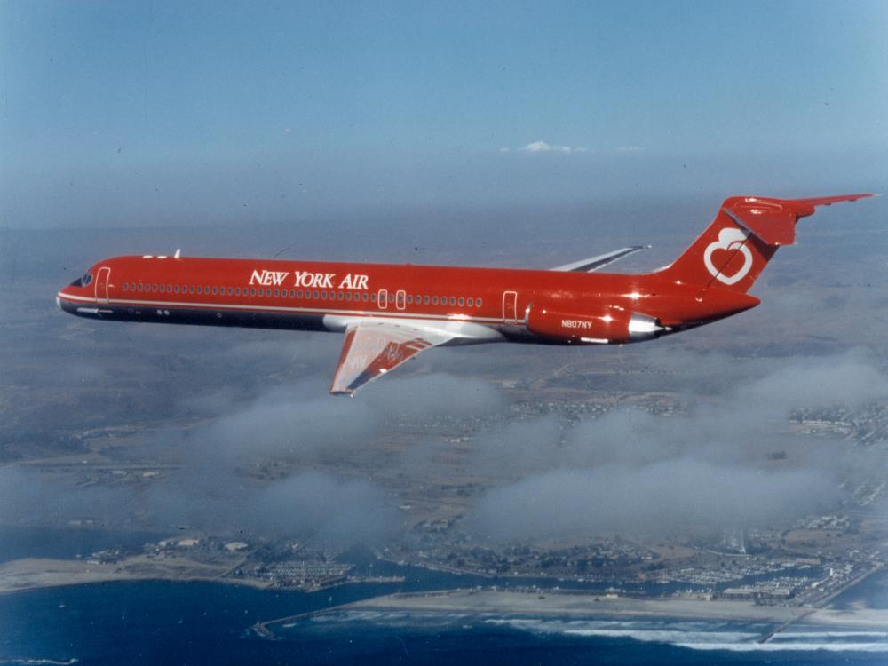
M 625 344 L 659 337 L 663 327 L 648 314 L 630 313 L 621 308 L 602 308 L 598 313 L 576 313 L 531 305 L 527 329 L 538 336 L 568 343 Z

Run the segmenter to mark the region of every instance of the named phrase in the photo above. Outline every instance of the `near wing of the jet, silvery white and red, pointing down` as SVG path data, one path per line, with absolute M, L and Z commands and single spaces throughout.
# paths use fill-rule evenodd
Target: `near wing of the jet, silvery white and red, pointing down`
M 362 385 L 385 375 L 424 349 L 458 337 L 430 325 L 361 321 L 345 329 L 345 344 L 330 393 L 352 395 Z

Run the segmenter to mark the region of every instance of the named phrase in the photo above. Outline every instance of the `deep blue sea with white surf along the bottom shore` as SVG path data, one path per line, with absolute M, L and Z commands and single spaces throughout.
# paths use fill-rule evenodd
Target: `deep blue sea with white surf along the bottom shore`
M 404 583 L 313 593 L 149 581 L 0 595 L 0 664 L 888 663 L 888 627 L 824 630 L 800 623 L 760 645 L 757 638 L 773 629 L 761 622 L 335 608 L 394 591 L 477 583 L 412 567 L 400 572 Z M 885 608 L 886 590 L 888 576 L 874 577 L 836 603 Z M 325 608 L 331 610 L 312 613 Z M 275 624 L 274 639 L 253 629 L 256 622 L 296 614 L 307 615 Z

